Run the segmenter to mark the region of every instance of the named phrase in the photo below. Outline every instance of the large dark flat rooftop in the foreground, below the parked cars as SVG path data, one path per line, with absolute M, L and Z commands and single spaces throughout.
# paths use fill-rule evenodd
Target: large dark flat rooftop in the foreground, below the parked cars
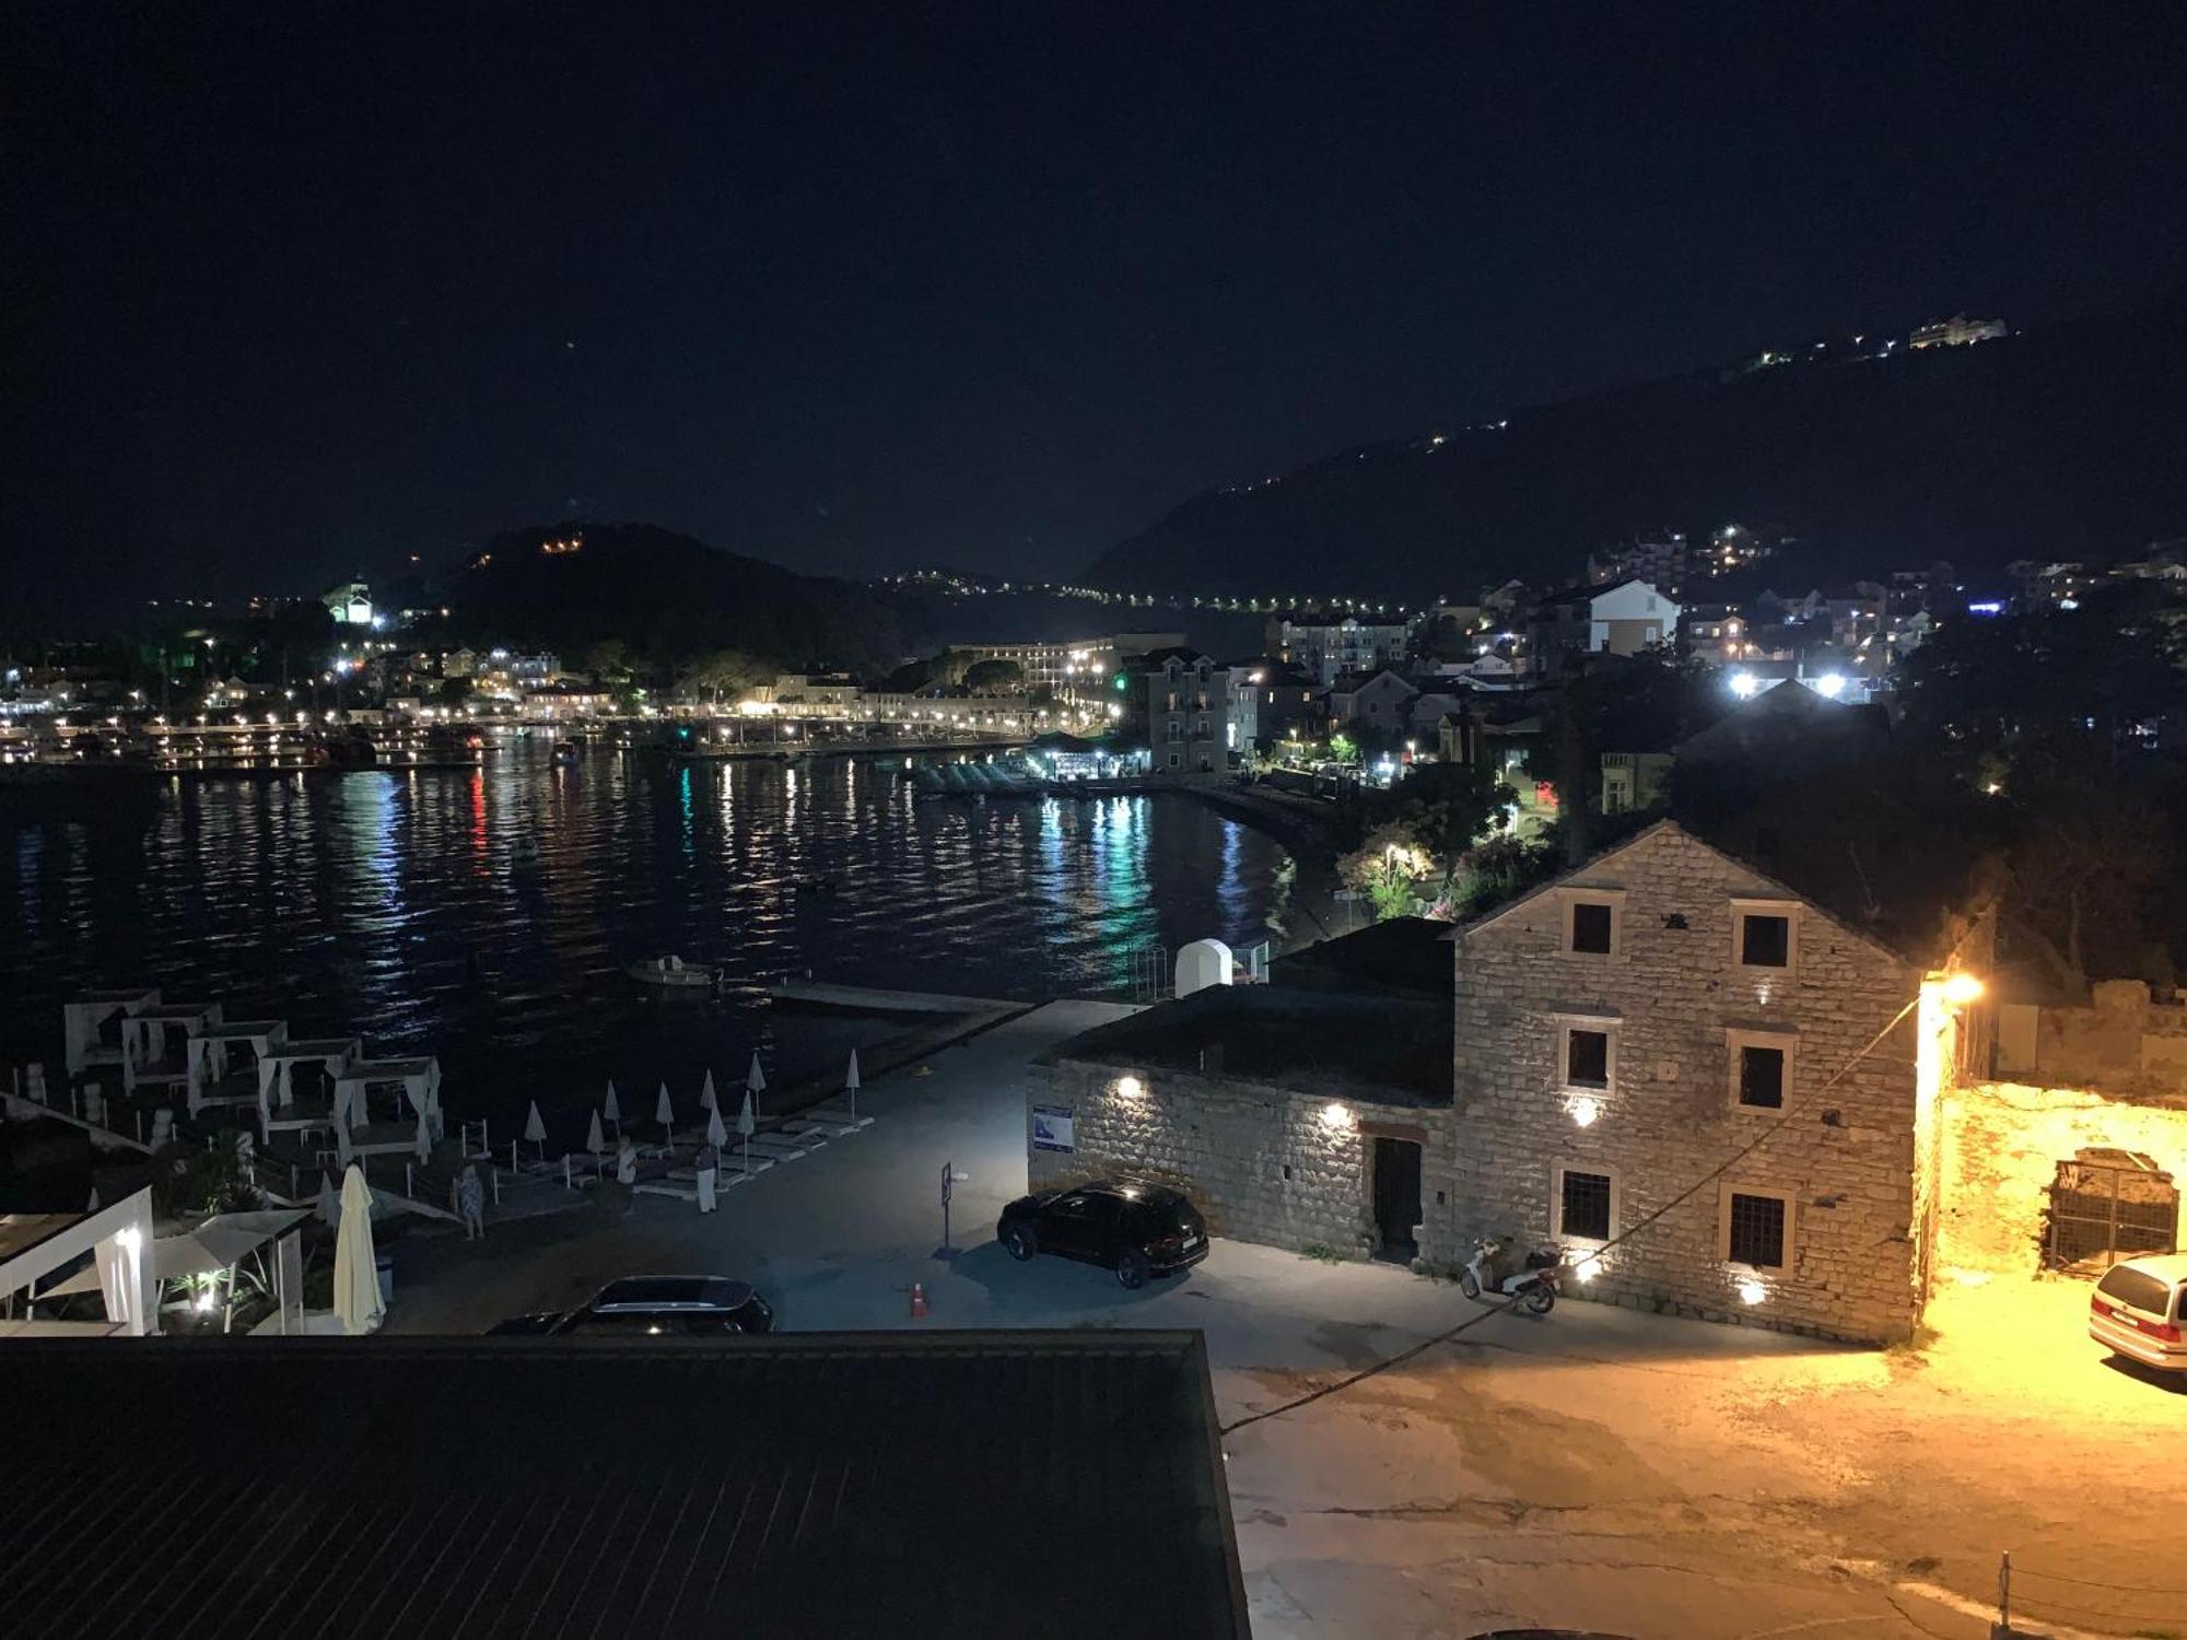
M 1247 1636 L 1196 1332 L 22 1340 L 7 1373 L 42 1426 L 11 1636 Z

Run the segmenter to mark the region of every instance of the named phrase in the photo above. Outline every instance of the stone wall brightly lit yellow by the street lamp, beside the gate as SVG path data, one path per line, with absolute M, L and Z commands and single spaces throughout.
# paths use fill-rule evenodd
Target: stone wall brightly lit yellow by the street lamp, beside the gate
M 1975 1082 L 1942 1100 L 1944 1209 L 1938 1262 L 2030 1275 L 2040 1268 L 2049 1187 L 2084 1146 L 2139 1150 L 2187 1181 L 2187 1109 L 2082 1087 Z

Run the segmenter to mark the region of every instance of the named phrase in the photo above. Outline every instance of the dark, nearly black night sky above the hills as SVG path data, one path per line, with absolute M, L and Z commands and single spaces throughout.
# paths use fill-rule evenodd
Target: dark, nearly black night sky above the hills
M 1069 575 L 1345 444 L 2187 267 L 2159 4 L 628 11 L 9 7 L 11 597 L 571 514 Z

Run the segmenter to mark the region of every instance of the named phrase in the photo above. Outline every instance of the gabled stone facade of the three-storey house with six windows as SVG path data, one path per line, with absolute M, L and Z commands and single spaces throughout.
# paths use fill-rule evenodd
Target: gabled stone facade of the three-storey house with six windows
M 1566 949 L 1575 888 L 1621 897 L 1614 953 Z M 1607 1172 L 1612 1233 L 1666 1211 L 1605 1255 L 1588 1297 L 1855 1340 L 1907 1334 L 1920 1308 L 1916 1026 L 1892 1019 L 1918 977 L 1815 907 L 1793 910 L 1789 971 L 1734 962 L 1732 901 L 1785 892 L 1660 824 L 1461 934 L 1461 1144 L 1450 1207 L 1441 1222 L 1428 1209 L 1439 1244 L 1548 1240 L 1555 1170 Z M 1562 1028 L 1575 1019 L 1610 1021 L 1607 1089 L 1566 1087 Z M 1778 1111 L 1734 1104 L 1730 1030 L 1793 1041 Z M 1723 1179 L 1671 1205 L 1732 1157 Z M 1791 1198 L 1785 1273 L 1723 1260 L 1726 1187 Z

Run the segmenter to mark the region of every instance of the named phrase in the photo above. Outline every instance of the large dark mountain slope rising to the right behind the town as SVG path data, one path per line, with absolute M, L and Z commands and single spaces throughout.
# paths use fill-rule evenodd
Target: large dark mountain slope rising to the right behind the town
M 1951 560 L 2110 558 L 2187 534 L 2187 289 L 1964 348 L 1623 383 L 1443 435 L 1203 490 L 1085 579 L 1139 593 L 1467 597 L 1721 523 L 1796 538 L 1822 579 Z

